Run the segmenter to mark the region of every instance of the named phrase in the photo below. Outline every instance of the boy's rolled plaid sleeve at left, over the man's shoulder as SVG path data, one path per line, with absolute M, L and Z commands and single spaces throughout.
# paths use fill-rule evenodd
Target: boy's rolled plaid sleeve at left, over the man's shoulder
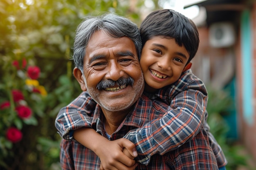
M 97 103 L 90 95 L 83 92 L 68 106 L 61 108 L 55 120 L 55 127 L 61 137 L 63 139 L 73 139 L 73 130 L 91 127 L 92 114 L 96 105 Z

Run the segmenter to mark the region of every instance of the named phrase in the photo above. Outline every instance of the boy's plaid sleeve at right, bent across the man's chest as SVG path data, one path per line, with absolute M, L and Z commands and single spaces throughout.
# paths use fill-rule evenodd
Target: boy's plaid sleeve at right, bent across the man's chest
M 163 117 L 126 134 L 125 138 L 137 147 L 137 160 L 147 164 L 152 155 L 175 150 L 197 135 L 204 122 L 206 106 L 207 96 L 198 90 L 188 89 L 177 94 Z

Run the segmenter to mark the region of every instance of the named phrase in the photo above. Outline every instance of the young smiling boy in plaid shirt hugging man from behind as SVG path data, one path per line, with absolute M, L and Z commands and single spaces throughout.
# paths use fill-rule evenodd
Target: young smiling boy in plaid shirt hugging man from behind
M 136 151 L 132 150 L 129 142 L 124 139 L 111 141 L 111 145 L 108 142 L 111 152 L 101 149 L 106 148 L 106 138 L 92 129 L 91 120 L 86 116 L 94 110 L 96 103 L 92 99 L 84 99 L 86 103 L 83 106 L 77 106 L 73 101 L 69 106 L 62 108 L 56 118 L 56 128 L 63 138 L 74 137 L 94 151 L 101 159 L 103 165 L 101 169 L 108 169 L 108 167 L 117 167 L 115 165 L 120 163 L 129 165 L 126 158 L 115 156 L 116 150 L 123 151 L 123 148 L 128 148 L 130 156 L 136 157 L 139 163 L 147 164 L 152 155 L 163 155 L 178 148 L 193 138 L 204 126 L 208 130 L 209 141 L 218 166 L 220 169 L 225 169 L 227 164 L 225 156 L 207 125 L 207 90 L 190 69 L 191 60 L 199 45 L 195 24 L 176 11 L 162 9 L 150 13 L 141 23 L 140 31 L 142 40 L 140 64 L 146 82 L 144 93 L 170 106 L 164 117 L 150 121 L 143 127 L 130 131 L 124 137 L 135 144 L 139 156 L 136 157 Z M 82 93 L 76 100 L 83 97 Z M 86 113 L 84 119 L 78 120 L 77 113 Z M 129 153 L 126 152 L 126 155 Z

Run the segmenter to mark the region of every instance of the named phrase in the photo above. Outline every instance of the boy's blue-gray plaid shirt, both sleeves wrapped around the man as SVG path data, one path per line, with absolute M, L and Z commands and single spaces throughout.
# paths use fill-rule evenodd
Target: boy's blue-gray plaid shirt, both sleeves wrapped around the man
M 92 114 L 90 110 L 94 110 L 96 103 L 85 94 L 82 93 L 69 106 L 62 108 L 57 116 L 56 128 L 64 139 L 72 139 L 72 130 L 92 127 L 92 117 L 87 115 Z M 198 134 L 203 124 L 208 130 L 218 166 L 227 164 L 220 146 L 209 133 L 207 112 L 204 112 L 207 105 L 206 88 L 191 70 L 186 71 L 175 84 L 162 88 L 155 95 L 147 95 L 170 106 L 163 117 L 145 124 L 141 129 L 131 130 L 125 136 L 137 146 L 139 162 L 147 164 L 154 154 L 163 155 L 177 149 Z

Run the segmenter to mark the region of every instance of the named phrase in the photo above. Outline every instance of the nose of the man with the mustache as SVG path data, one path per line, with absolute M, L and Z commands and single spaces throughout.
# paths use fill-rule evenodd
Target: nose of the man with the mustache
M 117 81 L 120 77 L 124 76 L 123 69 L 123 66 L 118 64 L 118 62 L 110 62 L 108 64 L 108 73 L 106 74 L 106 79 Z

